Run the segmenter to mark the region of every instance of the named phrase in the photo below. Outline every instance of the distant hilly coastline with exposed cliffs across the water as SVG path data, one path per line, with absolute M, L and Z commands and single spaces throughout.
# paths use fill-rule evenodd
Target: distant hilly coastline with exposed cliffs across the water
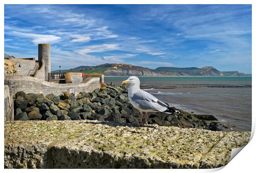
M 52 71 L 59 72 L 59 71 Z M 212 66 L 202 68 L 158 67 L 149 69 L 131 64 L 101 64 L 98 66 L 78 66 L 62 72 L 102 73 L 105 76 L 248 76 L 238 71 L 218 71 Z

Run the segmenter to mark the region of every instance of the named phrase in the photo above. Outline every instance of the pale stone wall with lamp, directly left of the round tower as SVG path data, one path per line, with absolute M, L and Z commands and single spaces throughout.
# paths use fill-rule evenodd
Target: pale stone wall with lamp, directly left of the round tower
M 15 66 L 19 76 L 31 76 L 39 69 L 38 62 L 35 60 L 19 58 L 11 58 L 11 60 L 14 64 L 17 63 Z M 19 64 L 21 67 L 19 67 Z

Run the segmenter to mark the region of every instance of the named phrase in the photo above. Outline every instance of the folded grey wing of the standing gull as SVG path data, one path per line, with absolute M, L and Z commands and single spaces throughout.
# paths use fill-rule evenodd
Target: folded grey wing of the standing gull
M 143 90 L 134 93 L 132 100 L 143 110 L 163 112 L 168 109 L 168 106 L 164 102 L 161 102 L 156 97 Z

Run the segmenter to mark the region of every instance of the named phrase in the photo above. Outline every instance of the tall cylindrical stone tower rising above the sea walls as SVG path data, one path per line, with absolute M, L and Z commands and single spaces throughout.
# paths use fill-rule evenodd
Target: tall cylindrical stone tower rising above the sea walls
M 38 44 L 38 62 L 42 66 L 45 62 L 45 81 L 48 81 L 48 73 L 51 73 L 50 44 Z

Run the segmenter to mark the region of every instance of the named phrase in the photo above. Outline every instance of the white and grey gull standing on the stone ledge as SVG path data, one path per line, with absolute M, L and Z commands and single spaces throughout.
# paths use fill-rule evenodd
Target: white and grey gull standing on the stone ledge
M 128 97 L 130 103 L 140 111 L 140 125 L 142 125 L 143 112 L 145 112 L 145 125 L 147 125 L 148 112 L 164 112 L 171 114 L 178 112 L 171 108 L 167 103 L 161 102 L 153 95 L 140 89 L 140 79 L 136 76 L 130 76 L 122 84 L 130 83 Z

